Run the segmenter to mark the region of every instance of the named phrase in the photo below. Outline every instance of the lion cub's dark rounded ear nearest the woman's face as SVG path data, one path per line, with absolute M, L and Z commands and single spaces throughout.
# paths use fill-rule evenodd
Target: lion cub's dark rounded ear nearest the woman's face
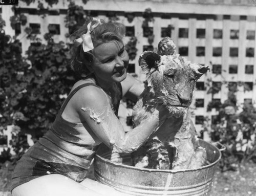
M 145 51 L 140 55 L 139 66 L 147 74 L 152 68 L 157 69 L 161 56 L 155 52 Z

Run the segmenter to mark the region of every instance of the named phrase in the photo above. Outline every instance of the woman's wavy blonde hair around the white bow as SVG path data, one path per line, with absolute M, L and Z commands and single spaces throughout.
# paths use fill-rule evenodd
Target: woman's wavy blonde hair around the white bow
M 91 20 L 90 20 L 91 21 Z M 87 33 L 87 25 L 84 24 L 80 29 L 71 35 L 71 39 L 81 37 L 83 34 Z M 91 24 L 91 39 L 94 48 L 101 45 L 102 43 L 110 41 L 123 42 L 122 39 L 125 36 L 125 26 L 120 23 L 105 23 L 104 20 L 100 19 L 101 24 L 94 28 L 94 21 Z M 90 74 L 88 66 L 93 65 L 93 50 L 88 52 L 83 52 L 82 44 L 74 41 L 74 45 L 71 49 L 71 67 L 81 77 L 86 77 Z

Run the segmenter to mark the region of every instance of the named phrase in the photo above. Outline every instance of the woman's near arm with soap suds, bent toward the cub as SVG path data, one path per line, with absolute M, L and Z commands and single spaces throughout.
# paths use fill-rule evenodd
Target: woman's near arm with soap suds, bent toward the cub
M 87 86 L 77 92 L 73 101 L 81 122 L 86 121 L 96 136 L 118 153 L 131 153 L 141 146 L 165 120 L 167 110 L 159 107 L 148 112 L 139 126 L 125 133 L 114 114 L 107 95 L 95 86 Z

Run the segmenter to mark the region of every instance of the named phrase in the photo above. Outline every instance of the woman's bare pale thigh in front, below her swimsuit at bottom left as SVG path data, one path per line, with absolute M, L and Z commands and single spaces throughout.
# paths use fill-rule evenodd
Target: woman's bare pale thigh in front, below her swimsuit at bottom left
M 13 196 L 102 196 L 102 194 L 81 185 L 65 176 L 52 174 L 19 185 L 12 191 Z

